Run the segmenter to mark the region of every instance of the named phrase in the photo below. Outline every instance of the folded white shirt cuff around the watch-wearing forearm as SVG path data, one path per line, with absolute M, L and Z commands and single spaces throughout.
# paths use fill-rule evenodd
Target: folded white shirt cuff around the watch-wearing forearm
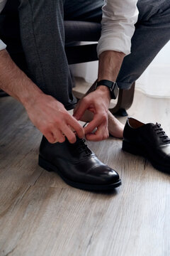
M 103 51 L 115 50 L 120 53 L 125 53 L 125 55 L 130 54 L 131 48 L 131 37 L 125 36 L 122 33 L 109 33 L 107 36 L 101 36 L 98 41 L 97 53 L 98 57 Z

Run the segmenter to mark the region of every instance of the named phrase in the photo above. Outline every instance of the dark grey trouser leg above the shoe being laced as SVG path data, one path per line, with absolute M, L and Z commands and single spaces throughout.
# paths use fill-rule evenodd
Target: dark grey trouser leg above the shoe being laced
M 63 5 L 64 0 L 20 0 L 18 13 L 30 78 L 69 110 L 76 99 L 64 51 Z

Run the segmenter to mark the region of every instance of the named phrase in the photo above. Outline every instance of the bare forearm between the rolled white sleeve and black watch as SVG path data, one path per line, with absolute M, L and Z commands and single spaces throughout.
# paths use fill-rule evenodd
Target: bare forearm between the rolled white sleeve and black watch
M 114 50 L 106 50 L 101 53 L 98 64 L 98 81 L 105 79 L 115 81 L 124 57 L 124 53 L 115 52 Z

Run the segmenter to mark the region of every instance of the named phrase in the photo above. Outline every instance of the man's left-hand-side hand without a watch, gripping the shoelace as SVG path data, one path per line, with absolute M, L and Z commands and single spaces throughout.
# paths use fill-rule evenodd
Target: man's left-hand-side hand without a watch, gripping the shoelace
M 74 143 L 77 140 L 75 132 L 79 138 L 84 137 L 81 124 L 54 97 L 42 93 L 33 102 L 28 102 L 25 107 L 30 120 L 50 143 L 62 143 L 65 137 L 70 143 Z

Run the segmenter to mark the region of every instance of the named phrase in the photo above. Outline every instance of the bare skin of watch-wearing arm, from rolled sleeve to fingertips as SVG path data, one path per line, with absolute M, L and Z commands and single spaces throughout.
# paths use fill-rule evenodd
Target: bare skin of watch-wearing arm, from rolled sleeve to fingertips
M 99 55 L 98 81 L 105 79 L 115 81 L 124 57 L 124 53 L 115 52 L 114 50 L 106 50 L 101 53 Z M 81 119 L 86 110 L 94 113 L 94 118 L 84 129 L 86 139 L 100 141 L 108 138 L 108 107 L 110 102 L 110 91 L 108 87 L 103 85 L 98 86 L 94 92 L 79 100 L 77 107 L 74 109 L 76 119 Z M 95 128 L 97 128 L 96 132 L 91 134 Z

